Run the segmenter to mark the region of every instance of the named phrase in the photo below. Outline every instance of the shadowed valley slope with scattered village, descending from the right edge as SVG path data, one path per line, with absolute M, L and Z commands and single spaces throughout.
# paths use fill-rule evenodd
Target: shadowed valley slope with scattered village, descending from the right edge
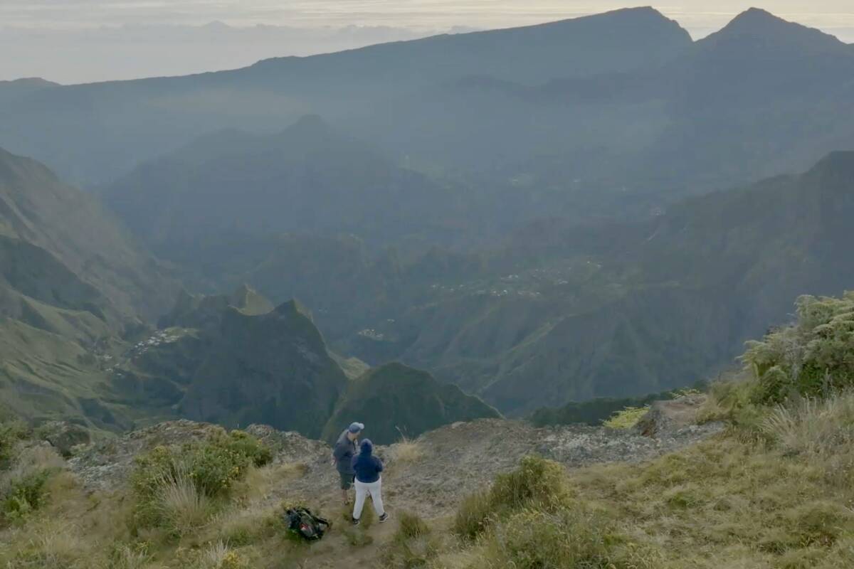
M 311 304 L 337 311 L 319 318 L 337 351 L 428 369 L 510 415 L 661 392 L 724 369 L 744 340 L 785 322 L 798 293 L 851 287 L 852 169 L 854 153 L 828 154 L 800 175 L 686 200 L 644 223 L 555 230 L 541 246 L 531 235 L 518 249 L 371 270 L 355 258 L 347 274 L 359 293 L 345 303 L 334 302 L 338 265 L 283 259 L 259 282 L 292 291 L 274 275 L 298 268 Z

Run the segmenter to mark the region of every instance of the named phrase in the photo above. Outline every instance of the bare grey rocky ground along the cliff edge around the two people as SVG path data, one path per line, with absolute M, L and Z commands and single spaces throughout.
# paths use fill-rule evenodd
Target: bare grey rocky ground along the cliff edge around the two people
M 390 509 L 401 508 L 434 518 L 451 514 L 459 500 L 488 485 L 497 473 L 512 470 L 531 453 L 582 467 L 597 462 L 642 462 L 693 444 L 722 430 L 720 423 L 697 425 L 702 398 L 661 402 L 642 429 L 604 427 L 536 428 L 524 421 L 487 419 L 455 423 L 401 444 L 377 447 L 386 463 L 383 490 Z M 366 436 L 370 437 L 370 428 Z M 69 466 L 87 489 L 119 490 L 139 453 L 159 444 L 179 445 L 203 439 L 219 427 L 193 421 L 168 421 L 107 442 L 78 448 Z M 299 499 L 338 508 L 338 476 L 329 445 L 297 433 L 253 425 L 249 433 L 268 444 L 274 464 L 295 466 L 268 500 Z M 650 436 L 643 434 L 650 433 Z M 295 473 L 295 474 L 294 474 Z

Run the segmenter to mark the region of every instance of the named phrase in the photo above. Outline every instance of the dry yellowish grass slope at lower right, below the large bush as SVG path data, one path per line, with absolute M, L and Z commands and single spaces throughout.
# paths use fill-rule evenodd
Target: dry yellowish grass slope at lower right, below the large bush
M 723 392 L 742 394 L 737 386 Z M 725 398 L 721 407 L 737 408 Z M 854 566 L 854 394 L 740 414 L 746 427 L 648 464 L 570 473 L 575 497 L 559 508 L 502 509 L 491 492 L 470 496 L 458 531 L 479 537 L 426 566 Z

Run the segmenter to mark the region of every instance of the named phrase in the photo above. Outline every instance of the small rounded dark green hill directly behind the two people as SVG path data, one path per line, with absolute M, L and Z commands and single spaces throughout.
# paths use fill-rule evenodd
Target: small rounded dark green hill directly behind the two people
M 500 417 L 498 411 L 459 387 L 430 374 L 389 363 L 352 380 L 326 423 L 323 438 L 333 442 L 353 421 L 366 424 L 365 436 L 377 444 L 417 437 L 455 421 Z

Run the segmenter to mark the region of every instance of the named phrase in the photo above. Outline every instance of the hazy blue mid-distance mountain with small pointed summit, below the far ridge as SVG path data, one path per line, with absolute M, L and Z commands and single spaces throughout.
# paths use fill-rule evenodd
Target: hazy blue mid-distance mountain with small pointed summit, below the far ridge
M 317 116 L 276 135 L 204 136 L 122 177 L 104 199 L 173 260 L 234 237 L 354 233 L 377 246 L 423 233 L 441 240 L 465 224 L 453 218 L 450 189 Z

